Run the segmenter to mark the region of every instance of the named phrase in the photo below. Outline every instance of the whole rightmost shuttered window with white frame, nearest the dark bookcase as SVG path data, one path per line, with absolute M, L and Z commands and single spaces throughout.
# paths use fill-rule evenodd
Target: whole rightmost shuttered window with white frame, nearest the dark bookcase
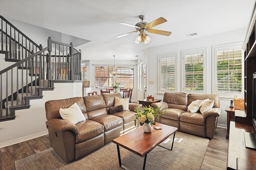
M 221 97 L 242 95 L 242 43 L 213 47 L 214 92 Z

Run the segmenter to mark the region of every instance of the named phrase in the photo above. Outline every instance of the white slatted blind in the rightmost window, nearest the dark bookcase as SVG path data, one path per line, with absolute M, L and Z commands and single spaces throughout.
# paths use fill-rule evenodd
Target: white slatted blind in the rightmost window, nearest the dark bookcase
M 216 67 L 216 92 L 241 93 L 242 49 L 216 51 Z

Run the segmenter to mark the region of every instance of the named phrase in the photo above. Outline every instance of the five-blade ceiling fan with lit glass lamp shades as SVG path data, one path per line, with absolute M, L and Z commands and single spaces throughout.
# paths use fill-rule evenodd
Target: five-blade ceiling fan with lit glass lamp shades
M 162 30 L 158 30 L 158 29 L 151 29 L 152 27 L 159 25 L 161 23 L 166 22 L 167 20 L 160 17 L 150 23 L 144 22 L 143 20 L 145 20 L 146 16 L 141 15 L 140 19 L 142 20 L 141 22 L 136 23 L 136 25 L 132 25 L 130 23 L 126 23 L 126 22 L 119 22 L 122 25 L 126 25 L 129 27 L 134 27 L 136 29 L 136 31 L 132 31 L 129 33 L 125 33 L 122 35 L 118 35 L 116 36 L 116 38 L 120 38 L 120 37 L 124 37 L 126 35 L 129 35 L 131 33 L 136 33 L 138 31 L 140 31 L 140 34 L 136 37 L 134 43 L 139 44 L 140 42 L 144 42 L 144 44 L 148 44 L 151 41 L 151 38 L 146 34 L 146 31 L 148 31 L 149 33 L 155 33 L 155 34 L 159 34 L 159 35 L 165 35 L 165 36 L 169 36 L 171 35 L 172 32 L 169 31 L 162 31 Z

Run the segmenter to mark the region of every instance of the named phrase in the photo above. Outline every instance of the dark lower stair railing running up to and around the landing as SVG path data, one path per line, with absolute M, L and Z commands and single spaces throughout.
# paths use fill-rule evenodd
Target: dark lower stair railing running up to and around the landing
M 16 109 L 29 108 L 30 96 L 38 96 L 39 88 L 52 87 L 51 80 L 81 80 L 81 51 L 72 43 L 49 37 L 48 47 L 39 49 L 0 71 L 0 121 L 14 119 Z

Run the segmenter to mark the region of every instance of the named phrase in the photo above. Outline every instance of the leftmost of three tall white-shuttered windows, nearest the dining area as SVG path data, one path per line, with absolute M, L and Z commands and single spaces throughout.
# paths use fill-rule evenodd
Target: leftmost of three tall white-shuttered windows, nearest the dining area
M 158 55 L 159 93 L 176 90 L 176 57 L 177 52 Z

